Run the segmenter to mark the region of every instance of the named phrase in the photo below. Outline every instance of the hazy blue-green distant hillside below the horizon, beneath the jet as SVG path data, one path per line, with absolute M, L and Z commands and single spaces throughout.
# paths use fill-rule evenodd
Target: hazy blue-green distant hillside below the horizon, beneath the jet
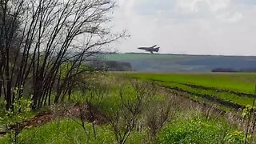
M 214 70 L 256 71 L 254 56 L 186 54 L 103 54 L 105 61 L 129 62 L 135 71 L 210 72 Z

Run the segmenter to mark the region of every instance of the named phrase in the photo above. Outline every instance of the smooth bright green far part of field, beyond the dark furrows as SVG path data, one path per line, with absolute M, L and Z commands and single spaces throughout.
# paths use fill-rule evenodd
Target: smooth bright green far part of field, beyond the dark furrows
M 132 77 L 155 79 L 165 82 L 190 83 L 198 86 L 234 90 L 253 94 L 256 74 L 152 74 L 134 73 Z

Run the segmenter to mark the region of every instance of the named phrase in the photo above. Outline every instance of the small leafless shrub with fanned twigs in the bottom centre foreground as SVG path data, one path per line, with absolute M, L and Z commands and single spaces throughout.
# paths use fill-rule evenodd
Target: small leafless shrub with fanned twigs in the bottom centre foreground
M 122 86 L 119 91 L 121 106 L 107 115 L 118 143 L 126 143 L 130 133 L 138 123 L 139 115 L 154 94 L 154 86 L 138 81 L 132 82 L 132 88 Z M 126 89 L 126 90 L 125 90 Z

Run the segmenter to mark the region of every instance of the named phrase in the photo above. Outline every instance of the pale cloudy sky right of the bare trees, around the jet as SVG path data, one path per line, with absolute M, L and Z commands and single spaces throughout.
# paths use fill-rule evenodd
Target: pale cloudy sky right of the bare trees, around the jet
M 115 30 L 130 38 L 119 52 L 161 47 L 168 54 L 256 56 L 256 0 L 117 0 Z

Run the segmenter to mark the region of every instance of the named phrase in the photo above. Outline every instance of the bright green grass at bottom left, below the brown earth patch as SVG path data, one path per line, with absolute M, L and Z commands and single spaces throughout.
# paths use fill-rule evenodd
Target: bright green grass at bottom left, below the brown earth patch
M 110 126 L 97 126 L 94 138 L 92 126 L 86 123 L 86 130 L 90 133 L 90 139 L 86 136 L 86 132 L 72 119 L 54 120 L 46 125 L 33 127 L 23 130 L 18 137 L 18 143 L 26 144 L 73 144 L 73 143 L 113 143 L 115 142 L 114 133 Z M 145 133 L 134 131 L 127 143 L 141 143 L 145 138 Z M 10 143 L 8 135 L 0 138 L 0 143 Z

